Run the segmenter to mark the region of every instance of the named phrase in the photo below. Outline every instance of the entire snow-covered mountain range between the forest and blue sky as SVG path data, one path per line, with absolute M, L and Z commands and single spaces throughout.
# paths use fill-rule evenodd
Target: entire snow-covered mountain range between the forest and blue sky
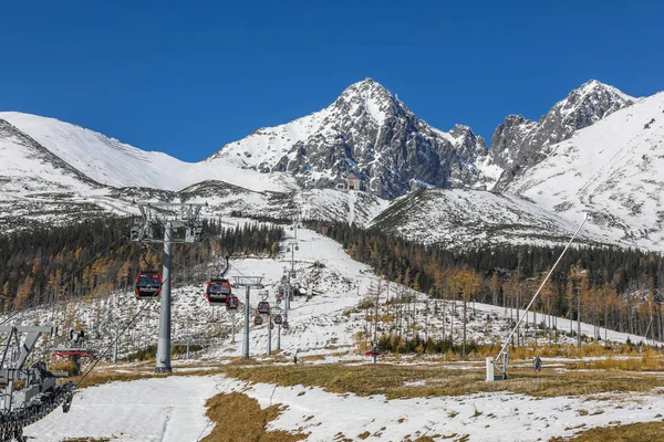
M 259 129 L 200 162 L 53 118 L 0 113 L 0 224 L 10 231 L 136 213 L 133 200 L 186 201 L 208 202 L 205 217 L 299 211 L 426 243 L 481 246 L 560 243 L 589 210 L 587 242 L 662 250 L 662 95 L 633 101 L 591 81 L 538 123 L 506 118 L 487 149 L 469 127 L 438 130 L 367 78 L 331 106 Z M 350 172 L 366 192 L 331 187 Z M 423 188 L 448 190 L 409 194 Z

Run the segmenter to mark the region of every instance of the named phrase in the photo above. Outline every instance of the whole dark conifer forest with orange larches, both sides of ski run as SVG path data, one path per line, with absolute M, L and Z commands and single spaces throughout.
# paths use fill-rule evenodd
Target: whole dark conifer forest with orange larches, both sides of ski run
M 96 296 L 132 286 L 138 270 L 160 269 L 162 245 L 128 241 L 131 219 L 20 232 L 0 236 L 0 308 L 8 312 L 54 298 Z M 481 250 L 424 246 L 377 230 L 308 221 L 339 241 L 377 274 L 432 298 L 466 299 L 522 309 L 562 248 L 502 245 Z M 279 251 L 283 230 L 252 223 L 204 225 L 198 244 L 174 246 L 174 284 L 201 282 L 216 260 Z M 664 262 L 655 253 L 618 248 L 570 249 L 535 307 L 620 332 L 661 339 Z

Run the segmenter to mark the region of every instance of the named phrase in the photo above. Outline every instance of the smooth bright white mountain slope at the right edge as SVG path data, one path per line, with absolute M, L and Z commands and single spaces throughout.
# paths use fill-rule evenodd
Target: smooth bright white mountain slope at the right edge
M 606 242 L 664 250 L 664 93 L 643 98 L 551 148 L 507 191 L 575 219 Z

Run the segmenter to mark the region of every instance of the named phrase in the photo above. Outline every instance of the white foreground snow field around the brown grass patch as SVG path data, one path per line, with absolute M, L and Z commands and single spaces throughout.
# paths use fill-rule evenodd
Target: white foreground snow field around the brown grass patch
M 38 442 L 63 438 L 113 436 L 121 442 L 199 441 L 212 423 L 205 401 L 238 391 L 261 408 L 288 406 L 268 430 L 309 434 L 331 441 L 342 433 L 360 440 L 402 441 L 429 435 L 469 441 L 536 441 L 571 436 L 593 427 L 646 422 L 661 417 L 660 394 L 610 393 L 588 398 L 533 398 L 509 392 L 386 400 L 329 393 L 320 388 L 247 385 L 220 375 L 112 382 L 82 390 L 68 414 L 59 411 L 29 427 Z M 452 435 L 455 436 L 452 436 Z M 450 438 L 452 436 L 452 438 Z

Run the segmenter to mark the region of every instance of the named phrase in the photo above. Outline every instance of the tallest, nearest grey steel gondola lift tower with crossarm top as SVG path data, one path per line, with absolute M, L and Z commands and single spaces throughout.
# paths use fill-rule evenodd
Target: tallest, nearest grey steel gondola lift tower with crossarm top
M 155 372 L 170 372 L 170 278 L 173 244 L 199 242 L 203 235 L 200 209 L 206 204 L 165 202 L 138 202 L 141 219 L 132 227 L 132 241 L 144 244 L 164 244 L 164 270 L 162 272 L 162 305 L 157 361 Z

